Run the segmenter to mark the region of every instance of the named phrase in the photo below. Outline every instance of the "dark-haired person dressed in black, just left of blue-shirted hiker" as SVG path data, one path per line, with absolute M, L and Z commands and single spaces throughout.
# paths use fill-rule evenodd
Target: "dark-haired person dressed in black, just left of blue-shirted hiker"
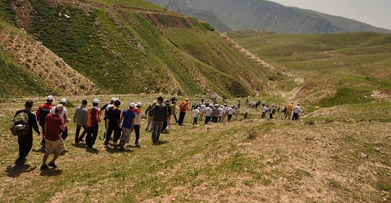
M 111 133 L 114 132 L 113 135 L 113 145 L 117 144 L 117 141 L 120 139 L 120 100 L 114 101 L 114 106 L 111 106 L 107 111 L 108 118 L 108 130 L 106 134 L 106 139 L 104 140 L 104 148 L 108 148 L 108 141 L 110 141 Z

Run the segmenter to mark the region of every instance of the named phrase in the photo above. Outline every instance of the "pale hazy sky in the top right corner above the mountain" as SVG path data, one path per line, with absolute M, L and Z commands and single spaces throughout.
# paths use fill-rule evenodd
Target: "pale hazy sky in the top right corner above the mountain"
M 391 0 L 268 0 L 391 30 Z

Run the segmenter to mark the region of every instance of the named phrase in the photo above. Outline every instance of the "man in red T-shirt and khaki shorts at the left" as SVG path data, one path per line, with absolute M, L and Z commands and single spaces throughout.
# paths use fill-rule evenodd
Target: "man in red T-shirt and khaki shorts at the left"
M 60 118 L 63 113 L 63 104 L 57 104 L 54 107 L 54 113 L 49 113 L 45 118 L 45 153 L 42 160 L 41 170 L 52 167 L 57 168 L 56 160 L 64 150 L 64 141 L 61 138 L 60 132 L 66 130 L 66 123 Z M 54 157 L 49 164 L 46 164 L 49 154 L 55 150 Z

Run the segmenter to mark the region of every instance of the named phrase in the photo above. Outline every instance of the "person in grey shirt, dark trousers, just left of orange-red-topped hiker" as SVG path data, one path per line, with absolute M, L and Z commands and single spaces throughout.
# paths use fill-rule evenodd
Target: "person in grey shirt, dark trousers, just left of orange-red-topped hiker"
M 76 123 L 76 133 L 75 133 L 75 144 L 83 142 L 83 137 L 87 133 L 87 118 L 88 118 L 88 109 L 87 109 L 87 100 L 82 100 L 82 105 L 78 106 L 73 115 L 73 123 Z M 83 128 L 82 135 L 80 135 L 80 130 Z

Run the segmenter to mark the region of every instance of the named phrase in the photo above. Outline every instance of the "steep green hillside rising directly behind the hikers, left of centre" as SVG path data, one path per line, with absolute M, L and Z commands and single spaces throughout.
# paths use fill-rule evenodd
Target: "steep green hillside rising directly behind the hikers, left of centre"
M 29 2 L 32 12 L 20 13 L 2 0 L 1 20 L 30 16 L 27 26 L 17 26 L 103 92 L 247 96 L 263 90 L 268 76 L 279 78 L 230 47 L 208 23 L 154 4 Z

